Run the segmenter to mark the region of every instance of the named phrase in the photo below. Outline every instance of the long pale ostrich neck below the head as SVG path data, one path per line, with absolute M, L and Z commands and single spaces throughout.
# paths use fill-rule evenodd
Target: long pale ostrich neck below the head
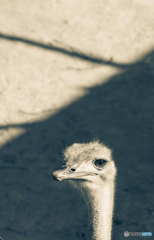
M 90 190 L 89 190 L 90 189 Z M 114 205 L 114 182 L 94 186 L 86 191 L 89 229 L 88 240 L 110 240 Z

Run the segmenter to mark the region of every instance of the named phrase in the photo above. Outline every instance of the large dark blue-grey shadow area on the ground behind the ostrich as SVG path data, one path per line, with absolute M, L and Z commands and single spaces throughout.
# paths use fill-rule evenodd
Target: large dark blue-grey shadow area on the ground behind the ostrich
M 26 130 L 0 149 L 2 236 L 78 239 L 85 205 L 69 186 L 52 181 L 52 171 L 62 164 L 63 147 L 95 137 L 114 150 L 118 169 L 113 239 L 122 240 L 127 229 L 152 231 L 153 62 L 154 52 L 147 53 L 46 120 L 1 126 Z

